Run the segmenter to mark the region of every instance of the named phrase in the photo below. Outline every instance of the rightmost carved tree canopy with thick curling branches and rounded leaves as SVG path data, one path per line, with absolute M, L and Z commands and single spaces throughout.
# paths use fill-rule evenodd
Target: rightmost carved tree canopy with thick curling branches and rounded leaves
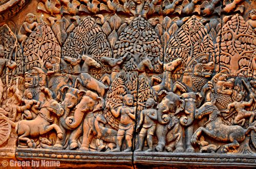
M 242 16 L 232 16 L 222 27 L 221 37 L 217 37 L 221 68 L 227 68 L 237 75 L 252 75 L 252 59 L 256 57 L 256 37 L 252 27 L 245 23 Z M 221 38 L 221 39 L 220 39 Z

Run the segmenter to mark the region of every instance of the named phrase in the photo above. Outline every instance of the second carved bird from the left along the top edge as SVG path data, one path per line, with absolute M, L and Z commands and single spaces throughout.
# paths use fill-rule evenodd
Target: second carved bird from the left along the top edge
M 78 13 L 77 7 L 80 5 L 80 3 L 77 0 L 73 0 L 72 3 L 70 3 L 70 0 L 60 0 L 65 6 L 61 6 L 60 13 L 61 15 L 63 13 L 70 14 L 70 15 L 76 15 Z

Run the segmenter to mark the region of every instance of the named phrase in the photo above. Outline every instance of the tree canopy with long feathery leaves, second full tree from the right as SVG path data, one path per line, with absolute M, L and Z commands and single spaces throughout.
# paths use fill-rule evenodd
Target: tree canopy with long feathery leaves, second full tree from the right
M 204 52 L 209 52 L 212 60 L 214 43 L 200 20 L 192 16 L 170 38 L 164 62 L 169 63 L 182 58 L 188 67 L 194 58 L 198 58 L 198 55 Z M 175 80 L 180 78 L 179 74 L 182 74 L 186 67 L 180 67 L 174 72 L 174 74 L 178 73 L 175 74 Z

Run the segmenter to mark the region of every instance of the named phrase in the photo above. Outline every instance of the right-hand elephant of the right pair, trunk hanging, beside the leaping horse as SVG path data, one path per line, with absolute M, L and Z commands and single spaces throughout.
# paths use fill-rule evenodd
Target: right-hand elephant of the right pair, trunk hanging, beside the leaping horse
M 180 96 L 184 101 L 184 115 L 181 116 L 180 125 L 184 128 L 185 131 L 185 142 L 186 142 L 186 152 L 195 152 L 195 149 L 191 145 L 190 139 L 194 132 L 194 120 L 196 114 L 196 108 L 200 106 L 202 102 L 202 95 L 200 93 L 183 93 Z M 183 137 L 179 140 L 179 143 L 183 145 Z

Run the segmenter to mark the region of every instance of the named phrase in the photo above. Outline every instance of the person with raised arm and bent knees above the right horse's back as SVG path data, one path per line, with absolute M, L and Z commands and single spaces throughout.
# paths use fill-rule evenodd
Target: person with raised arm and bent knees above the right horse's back
M 234 101 L 232 103 L 229 103 L 227 105 L 226 112 L 229 112 L 231 107 L 234 107 L 234 109 L 236 109 L 236 111 L 238 112 L 238 115 L 236 116 L 236 118 L 234 118 L 234 121 L 233 121 L 233 124 L 235 124 L 235 125 L 238 125 L 242 122 L 241 125 L 243 126 L 244 123 L 245 123 L 245 118 L 248 118 L 248 117 L 250 118 L 249 119 L 249 124 L 251 124 L 253 122 L 253 119 L 254 119 L 255 113 L 253 111 L 246 111 L 244 109 L 244 107 L 252 105 L 252 102 L 253 102 L 253 99 L 254 99 L 255 95 L 253 93 L 251 93 L 250 94 L 250 100 L 248 102 L 243 101 L 244 97 L 245 97 L 245 93 L 240 92 L 239 95 L 238 95 L 238 100 Z

